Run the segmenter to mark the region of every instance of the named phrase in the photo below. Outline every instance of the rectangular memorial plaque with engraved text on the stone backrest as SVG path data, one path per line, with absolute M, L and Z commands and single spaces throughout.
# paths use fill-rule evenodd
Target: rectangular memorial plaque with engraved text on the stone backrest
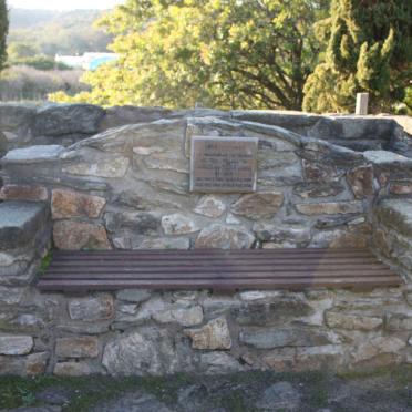
M 256 137 L 192 138 L 190 190 L 247 193 L 256 190 Z

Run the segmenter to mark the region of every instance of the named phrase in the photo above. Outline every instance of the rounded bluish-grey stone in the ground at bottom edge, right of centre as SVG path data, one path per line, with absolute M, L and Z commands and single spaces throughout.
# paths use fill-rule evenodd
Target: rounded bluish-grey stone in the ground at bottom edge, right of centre
M 270 411 L 298 411 L 301 394 L 289 382 L 277 382 L 265 390 L 256 408 Z

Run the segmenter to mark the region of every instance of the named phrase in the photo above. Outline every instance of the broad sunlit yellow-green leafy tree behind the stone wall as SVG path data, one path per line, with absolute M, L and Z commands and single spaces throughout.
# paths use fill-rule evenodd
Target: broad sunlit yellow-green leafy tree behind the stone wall
M 100 22 L 120 59 L 51 96 L 102 105 L 301 109 L 327 0 L 128 0 Z

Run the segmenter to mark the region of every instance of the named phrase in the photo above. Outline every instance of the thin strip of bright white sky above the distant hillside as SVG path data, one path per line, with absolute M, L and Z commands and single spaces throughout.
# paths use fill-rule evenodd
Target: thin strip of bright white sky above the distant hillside
M 20 9 L 111 9 L 125 0 L 7 0 L 9 8 Z

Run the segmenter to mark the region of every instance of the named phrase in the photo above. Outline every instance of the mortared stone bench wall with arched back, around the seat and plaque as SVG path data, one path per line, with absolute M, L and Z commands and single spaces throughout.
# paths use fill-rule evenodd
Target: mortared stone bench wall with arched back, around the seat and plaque
M 2 158 L 0 373 L 348 370 L 411 362 L 412 159 L 331 144 L 337 134 L 322 134 L 319 124 L 340 119 L 190 114 L 171 112 L 69 147 L 23 147 Z M 295 117 L 269 124 L 276 116 L 278 123 Z M 365 124 L 357 122 L 342 126 L 348 136 Z M 320 138 L 308 135 L 316 125 Z M 194 135 L 258 137 L 257 193 L 189 193 Z M 408 147 L 408 136 L 399 136 Z M 394 142 L 391 134 L 385 138 Z M 61 249 L 371 247 L 405 285 L 365 292 L 40 293 L 33 278 L 50 241 Z

